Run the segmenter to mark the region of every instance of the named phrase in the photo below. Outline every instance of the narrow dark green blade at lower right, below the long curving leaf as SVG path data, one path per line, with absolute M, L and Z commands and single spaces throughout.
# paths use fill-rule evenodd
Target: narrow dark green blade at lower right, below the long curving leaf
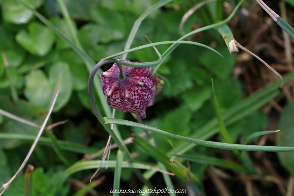
M 224 167 L 230 170 L 250 173 L 250 171 L 243 165 L 240 165 L 232 161 L 215 158 L 215 157 L 208 157 L 206 155 L 201 155 L 201 154 L 182 155 L 182 156 L 176 155 L 176 157 L 180 157 L 180 158 L 183 158 L 184 160 L 192 161 L 195 163 L 214 165 L 214 166 Z

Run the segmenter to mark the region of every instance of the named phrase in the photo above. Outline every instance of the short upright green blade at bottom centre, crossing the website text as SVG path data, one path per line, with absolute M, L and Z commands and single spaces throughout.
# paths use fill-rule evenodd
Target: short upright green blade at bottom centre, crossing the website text
M 113 181 L 113 190 L 119 190 L 119 184 L 121 181 L 121 167 L 123 164 L 123 157 L 125 156 L 126 151 L 118 149 L 116 154 L 116 167 L 114 170 L 114 181 Z M 113 196 L 118 196 L 119 193 L 113 192 Z

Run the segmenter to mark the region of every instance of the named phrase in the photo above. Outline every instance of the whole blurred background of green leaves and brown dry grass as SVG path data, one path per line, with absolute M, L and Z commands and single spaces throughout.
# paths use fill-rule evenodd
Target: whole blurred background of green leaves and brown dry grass
M 70 29 L 54 0 L 23 0 L 54 24 L 69 39 Z M 154 43 L 177 40 L 182 35 L 179 24 L 185 12 L 201 0 L 174 0 L 153 11 L 143 20 L 131 48 L 148 44 L 144 35 Z M 134 21 L 158 0 L 65 0 L 74 22 L 82 48 L 96 62 L 123 51 Z M 264 1 L 280 14 L 280 1 Z M 201 7 L 193 14 L 183 31 L 188 33 L 202 26 L 214 24 L 229 16 L 238 0 L 215 1 Z M 288 23 L 293 26 L 293 0 L 286 2 Z M 36 124 L 42 124 L 46 117 L 52 95 L 60 89 L 49 124 L 68 120 L 51 130 L 44 137 L 56 137 L 82 144 L 80 152 L 66 150 L 68 164 L 56 155 L 54 145 L 40 141 L 29 164 L 34 165 L 32 174 L 32 195 L 55 195 L 58 182 L 66 168 L 81 160 L 84 154 L 98 152 L 106 146 L 107 132 L 93 115 L 88 97 L 88 71 L 83 59 L 71 47 L 56 36 L 34 14 L 14 0 L 0 0 L 0 51 L 4 52 L 9 67 L 0 57 L 0 108 Z M 284 18 L 285 19 L 285 18 Z M 237 14 L 228 23 L 235 39 L 247 46 L 280 74 L 293 72 L 291 59 L 285 57 L 284 36 L 280 27 L 266 14 L 256 1 L 246 0 Z M 155 97 L 153 106 L 147 108 L 144 123 L 167 132 L 182 136 L 191 135 L 209 120 L 216 117 L 213 107 L 211 78 L 214 79 L 216 95 L 221 112 L 237 105 L 242 99 L 278 81 L 257 59 L 245 52 L 230 54 L 217 30 L 211 29 L 188 38 L 208 45 L 220 52 L 228 65 L 215 53 L 202 47 L 183 44 L 178 46 L 165 60 L 157 72 L 165 77 L 162 92 Z M 293 41 L 293 40 L 292 40 Z M 293 44 L 293 42 L 292 42 Z M 169 45 L 157 46 L 161 54 Z M 2 53 L 3 54 L 3 53 Z M 156 61 L 158 56 L 152 47 L 131 52 L 131 61 Z M 104 65 L 106 71 L 111 64 Z M 233 143 L 243 144 L 244 138 L 263 130 L 281 129 L 281 134 L 268 134 L 255 140 L 258 145 L 293 146 L 294 134 L 294 82 L 285 84 L 278 96 L 227 126 Z M 14 93 L 15 92 L 15 93 Z M 97 101 L 98 99 L 96 99 Z M 98 107 L 101 103 L 97 101 Z M 103 110 L 101 109 L 101 112 Z M 105 114 L 102 112 L 102 116 Z M 116 118 L 136 121 L 130 113 L 116 111 Z M 181 122 L 181 123 L 179 123 Z M 281 123 L 283 122 L 283 123 Z M 118 125 L 123 139 L 128 134 L 141 133 L 141 129 Z M 0 133 L 11 134 L 9 139 L 0 135 L 0 185 L 6 183 L 24 160 L 32 140 L 39 128 L 0 115 Z M 284 132 L 283 132 L 284 131 Z M 54 136 L 52 136 L 52 132 Z M 282 133 L 283 132 L 283 133 Z M 19 137 L 16 137 L 19 134 Z M 23 137 L 23 138 L 22 138 Z M 168 153 L 180 141 L 152 134 L 161 152 Z M 46 139 L 46 138 L 45 138 Z M 211 135 L 211 141 L 225 142 L 219 134 Z M 88 147 L 87 147 L 88 146 Z M 138 162 L 156 164 L 146 151 L 134 144 L 128 144 Z M 110 160 L 115 160 L 116 149 L 111 151 Z M 196 146 L 185 155 L 206 155 L 238 162 L 234 154 Z M 191 171 L 203 175 L 207 195 L 218 195 L 217 183 L 229 190 L 231 195 L 248 195 L 248 183 L 254 195 L 284 195 L 288 179 L 294 172 L 293 153 L 250 152 L 248 154 L 264 179 L 223 167 L 205 167 L 190 162 Z M 101 160 L 101 156 L 96 160 Z M 187 165 L 186 163 L 184 163 Z M 204 168 L 204 169 L 203 169 Z M 89 183 L 94 170 L 84 170 L 70 177 L 64 185 L 63 195 L 74 195 Z M 114 168 L 101 170 L 97 178 L 100 183 L 87 195 L 110 195 L 113 187 Z M 140 189 L 143 184 L 132 169 L 123 168 L 121 189 Z M 171 177 L 175 189 L 186 189 L 186 184 L 177 177 Z M 270 180 L 268 180 L 270 179 Z M 161 173 L 151 177 L 154 187 L 165 188 Z M 21 174 L 4 195 L 24 195 L 24 174 Z M 167 194 L 166 194 L 167 195 Z

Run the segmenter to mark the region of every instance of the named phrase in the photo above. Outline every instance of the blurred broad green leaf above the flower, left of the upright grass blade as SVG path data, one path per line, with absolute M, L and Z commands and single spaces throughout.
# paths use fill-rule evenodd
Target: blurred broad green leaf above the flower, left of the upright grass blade
M 91 7 L 91 19 L 99 24 L 101 42 L 118 41 L 126 36 L 126 24 L 119 12 L 101 6 Z

